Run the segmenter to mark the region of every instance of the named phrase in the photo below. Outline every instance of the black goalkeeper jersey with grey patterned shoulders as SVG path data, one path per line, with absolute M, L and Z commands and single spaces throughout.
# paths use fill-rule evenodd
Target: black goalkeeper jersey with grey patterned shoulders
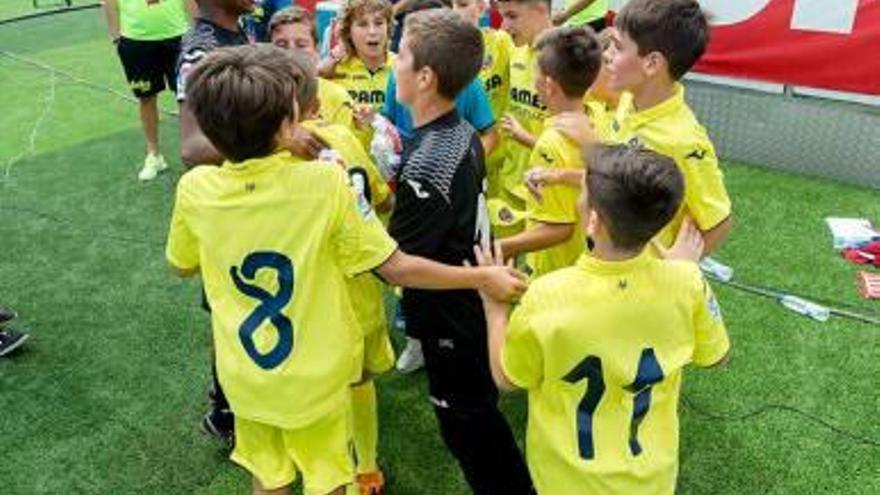
M 490 236 L 485 178 L 479 136 L 455 110 L 415 129 L 404 145 L 391 236 L 409 254 L 450 265 L 474 263 L 474 244 Z M 476 291 L 405 289 L 403 310 L 413 337 L 485 340 Z

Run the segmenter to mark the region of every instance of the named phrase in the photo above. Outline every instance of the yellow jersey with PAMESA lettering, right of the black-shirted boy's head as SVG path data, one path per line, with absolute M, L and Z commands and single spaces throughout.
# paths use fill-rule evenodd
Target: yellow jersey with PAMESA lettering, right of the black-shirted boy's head
M 544 120 L 549 117 L 547 106 L 538 97 L 535 88 L 538 51 L 531 46 L 516 47 L 510 58 L 510 98 L 507 112 L 536 138 L 544 130 Z M 507 139 L 505 159 L 501 169 L 502 198 L 520 207 L 528 193 L 523 186 L 523 174 L 530 168 L 531 148 Z

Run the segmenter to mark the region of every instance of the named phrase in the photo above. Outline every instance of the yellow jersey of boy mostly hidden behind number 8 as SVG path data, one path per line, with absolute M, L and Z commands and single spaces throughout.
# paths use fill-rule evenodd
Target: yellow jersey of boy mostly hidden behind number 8
M 368 221 L 378 224 L 378 228 L 384 228 L 379 218 L 370 214 L 369 209 L 387 200 L 391 191 L 351 130 L 316 121 L 303 122 L 303 126 L 315 132 L 339 153 L 348 170 L 360 208 L 368 216 Z M 364 335 L 387 328 L 382 282 L 372 273 L 364 273 L 346 279 L 346 286 Z

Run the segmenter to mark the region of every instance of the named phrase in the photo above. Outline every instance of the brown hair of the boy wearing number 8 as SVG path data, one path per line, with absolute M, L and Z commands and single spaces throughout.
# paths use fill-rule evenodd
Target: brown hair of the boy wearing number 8
M 186 101 L 205 136 L 233 162 L 270 155 L 285 119 L 296 120 L 302 76 L 272 45 L 220 48 L 189 76 Z

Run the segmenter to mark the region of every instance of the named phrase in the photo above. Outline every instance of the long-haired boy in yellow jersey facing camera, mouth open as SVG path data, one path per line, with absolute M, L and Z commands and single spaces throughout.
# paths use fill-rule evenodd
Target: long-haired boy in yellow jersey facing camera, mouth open
M 373 116 L 385 103 L 394 55 L 388 51 L 391 4 L 387 0 L 351 0 L 340 19 L 339 45 L 319 67 L 319 74 L 344 87 L 355 104 L 358 139 L 369 149 Z

